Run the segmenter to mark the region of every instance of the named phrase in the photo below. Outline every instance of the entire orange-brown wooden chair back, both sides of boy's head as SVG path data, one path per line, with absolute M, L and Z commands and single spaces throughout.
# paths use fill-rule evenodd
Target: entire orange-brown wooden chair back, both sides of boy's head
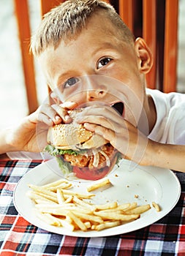
M 65 0 L 40 0 L 41 15 Z M 106 0 L 107 1 L 107 0 Z M 34 61 L 29 54 L 30 22 L 27 0 L 14 0 L 18 20 L 29 113 L 38 108 Z M 154 67 L 147 75 L 148 87 L 176 91 L 178 0 L 110 0 L 135 36 L 146 39 L 154 55 Z M 164 4 L 165 3 L 165 4 Z

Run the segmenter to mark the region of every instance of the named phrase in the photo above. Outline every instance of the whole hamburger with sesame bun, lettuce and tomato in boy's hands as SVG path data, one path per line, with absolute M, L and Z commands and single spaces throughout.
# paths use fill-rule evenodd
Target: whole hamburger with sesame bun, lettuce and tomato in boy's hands
M 69 110 L 70 124 L 56 124 L 48 129 L 45 151 L 56 157 L 65 177 L 73 173 L 78 178 L 97 180 L 110 173 L 120 154 L 102 136 L 75 121 L 82 110 Z

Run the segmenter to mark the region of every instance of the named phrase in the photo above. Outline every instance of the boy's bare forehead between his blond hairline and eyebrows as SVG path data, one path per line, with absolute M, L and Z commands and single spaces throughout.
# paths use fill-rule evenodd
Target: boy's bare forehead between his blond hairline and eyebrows
M 102 18 L 105 18 L 103 22 Z M 94 15 L 89 18 L 86 26 L 75 37 L 67 40 L 61 39 L 56 49 L 53 45 L 49 45 L 40 54 L 39 60 L 48 82 L 56 84 L 56 81 L 53 81 L 54 77 L 63 74 L 67 78 L 70 71 L 74 74 L 73 71 L 79 68 L 83 72 L 83 64 L 87 65 L 91 59 L 96 56 L 101 57 L 99 55 L 105 54 L 105 51 L 105 55 L 108 55 L 109 50 L 118 51 L 123 50 L 124 47 L 126 48 L 127 44 L 121 37 L 118 37 L 118 32 L 111 21 L 105 15 Z

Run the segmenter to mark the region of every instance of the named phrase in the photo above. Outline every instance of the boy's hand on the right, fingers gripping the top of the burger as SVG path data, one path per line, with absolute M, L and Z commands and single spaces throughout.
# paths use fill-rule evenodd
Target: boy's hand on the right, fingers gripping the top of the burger
M 78 123 L 110 141 L 127 159 L 142 161 L 148 138 L 110 106 L 93 105 L 78 114 Z

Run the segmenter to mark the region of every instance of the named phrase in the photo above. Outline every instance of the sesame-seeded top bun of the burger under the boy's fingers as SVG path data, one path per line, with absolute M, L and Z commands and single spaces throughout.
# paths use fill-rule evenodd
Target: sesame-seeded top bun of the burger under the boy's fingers
M 88 131 L 83 124 L 75 121 L 77 113 L 83 109 L 69 111 L 72 118 L 70 124 L 56 124 L 48 129 L 48 143 L 61 149 L 99 148 L 107 143 L 107 140 L 94 132 Z

